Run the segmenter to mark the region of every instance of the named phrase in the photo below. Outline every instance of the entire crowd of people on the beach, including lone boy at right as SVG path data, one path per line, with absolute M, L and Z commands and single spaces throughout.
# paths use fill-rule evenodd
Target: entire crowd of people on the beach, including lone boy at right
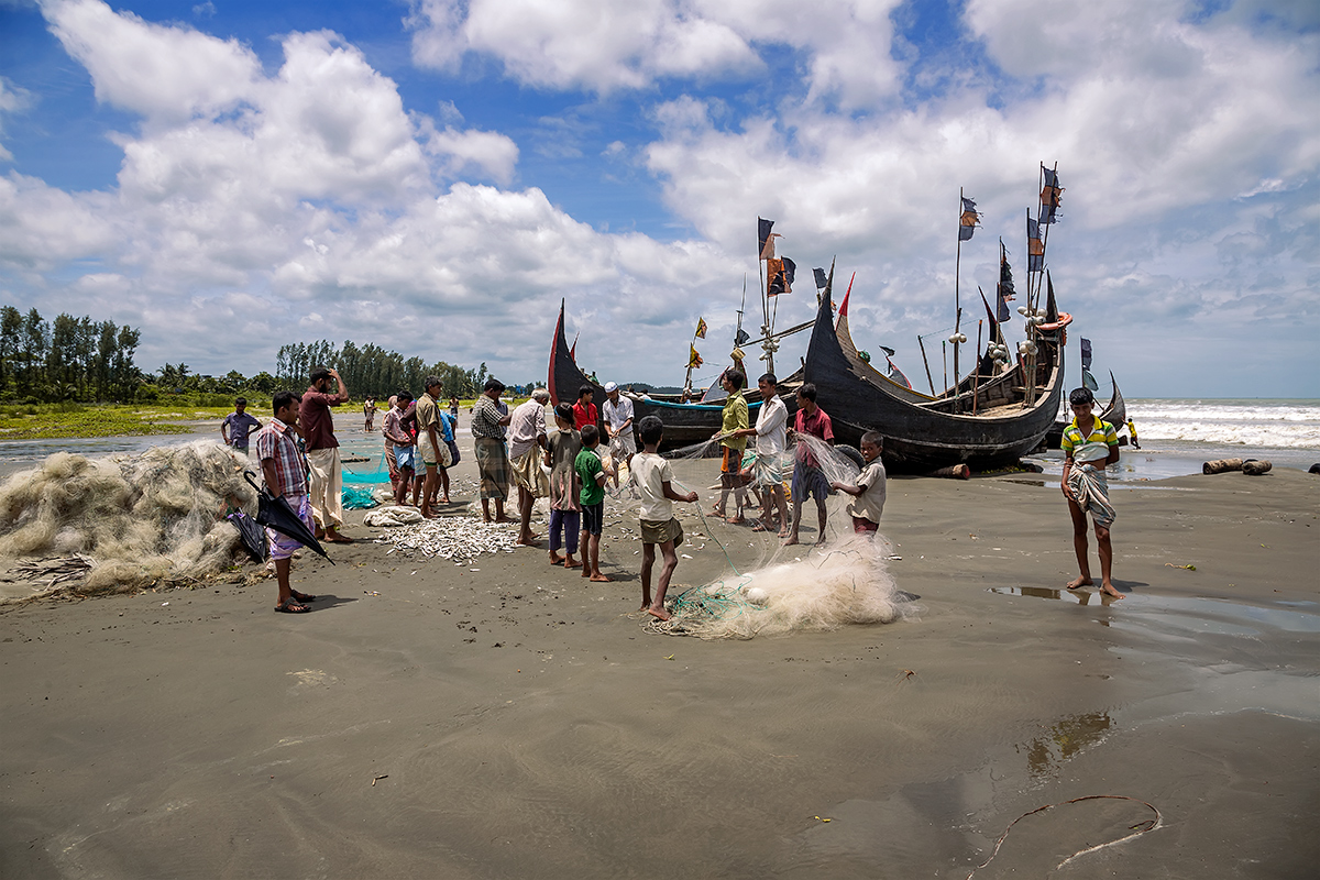
M 711 438 L 721 449 L 721 493 L 710 511 L 711 516 L 730 524 L 744 522 L 746 492 L 751 489 L 760 507 L 754 530 L 766 532 L 777 526 L 779 537 L 785 545 L 792 545 L 800 538 L 803 504 L 812 499 L 817 507 L 817 544 L 822 544 L 826 499 L 832 491 L 840 491 L 851 496 L 847 513 L 854 532 L 876 533 L 887 484 L 879 433 L 866 431 L 862 435 L 859 451 L 863 466 L 857 478 L 851 482 L 830 480 L 822 458 L 830 455 L 829 447 L 834 445 L 833 424 L 816 402 L 814 385 L 805 383 L 797 388 L 797 412 L 789 429 L 787 406 L 779 398 L 772 373 L 758 380 L 762 405 L 755 426 L 748 424 L 744 375 L 730 369 L 721 383 L 727 397 L 721 430 Z M 532 532 L 531 519 L 536 499 L 549 497 L 550 565 L 581 567 L 583 578 L 609 581 L 599 563 L 605 493 L 611 480 L 615 492 L 623 491 L 620 472 L 627 470 L 630 480 L 626 488 L 640 503 L 642 610 L 661 620 L 668 619 L 665 591 L 677 567 L 676 548 L 684 541 L 682 526 L 673 516 L 673 503 L 694 503 L 697 493 L 680 492 L 673 486 L 671 464 L 659 454 L 664 439 L 663 422 L 647 416 L 635 425 L 632 401 L 612 381 L 605 385 L 606 400 L 599 408 L 593 400 L 591 385 L 579 389 L 576 404 L 556 406 L 554 430 L 548 429 L 545 418 L 550 398 L 546 389 L 535 389 L 525 402 L 513 409 L 500 400 L 504 391 L 499 380 L 487 380 L 471 408 L 473 451 L 480 478 L 483 520 L 515 521 L 506 515 L 504 505 L 516 486 L 517 542 L 540 546 L 540 536 Z M 451 398 L 446 409 L 438 401 L 440 394 L 441 380 L 428 376 L 425 389 L 416 400 L 407 389 L 389 398 L 381 425 L 395 501 L 407 504 L 411 491 L 412 504 L 428 519 L 438 516 L 438 503 L 449 503 L 447 470 L 461 459 L 455 441 L 458 400 Z M 224 442 L 244 454 L 249 437 L 256 433 L 257 458 L 268 491 L 282 497 L 318 540 L 341 544 L 352 540 L 339 532 L 343 525 L 342 459 L 330 410 L 347 401 L 348 389 L 339 373 L 318 368 L 312 372 L 310 385 L 302 394 L 286 391 L 275 394 L 273 418 L 265 426 L 246 412 L 247 401 L 239 398 L 235 412 L 226 417 L 220 427 Z M 1118 460 L 1117 434 L 1113 425 L 1093 416 L 1094 398 L 1089 391 L 1081 388 L 1072 392 L 1069 401 L 1074 418 L 1063 437 L 1063 493 L 1073 520 L 1080 575 L 1068 587 L 1093 583 L 1088 565 L 1089 513 L 1100 545 L 1101 590 L 1109 596 L 1122 598 L 1111 582 L 1109 526 L 1114 521 L 1114 509 L 1105 480 L 1105 467 Z M 642 441 L 640 453 L 635 435 Z M 755 443 L 747 449 L 751 438 Z M 784 491 L 789 467 L 791 520 Z M 727 516 L 730 495 L 735 503 L 733 516 Z M 300 545 L 271 529 L 268 540 L 279 582 L 276 611 L 309 611 L 306 603 L 315 596 L 289 586 L 289 559 Z M 652 590 L 657 550 L 663 565 Z

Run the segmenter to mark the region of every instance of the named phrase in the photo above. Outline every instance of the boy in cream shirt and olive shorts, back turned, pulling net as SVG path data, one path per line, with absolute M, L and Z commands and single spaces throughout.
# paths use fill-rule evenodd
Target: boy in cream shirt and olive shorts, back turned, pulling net
M 678 495 L 673 491 L 673 470 L 668 459 L 660 458 L 660 441 L 664 439 L 664 424 L 656 416 L 647 416 L 639 425 L 642 449 L 632 458 L 632 478 L 642 495 L 642 611 L 653 617 L 668 620 L 664 610 L 664 595 L 669 590 L 669 579 L 678 567 L 677 548 L 682 546 L 682 524 L 673 516 L 673 501 L 697 500 L 696 492 Z M 655 600 L 651 599 L 651 567 L 656 561 L 656 545 L 664 565 L 656 581 Z

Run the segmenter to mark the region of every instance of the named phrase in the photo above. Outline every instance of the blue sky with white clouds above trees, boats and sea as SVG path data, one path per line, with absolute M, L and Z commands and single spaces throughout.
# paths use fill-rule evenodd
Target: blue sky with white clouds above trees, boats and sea
M 524 383 L 564 299 L 602 381 L 681 384 L 698 318 L 710 381 L 762 216 L 777 327 L 836 261 L 858 347 L 921 387 L 924 335 L 940 385 L 1041 164 L 1069 385 L 1086 336 L 1105 392 L 1320 397 L 1313 0 L 0 0 L 0 303 L 148 371 L 351 339 Z

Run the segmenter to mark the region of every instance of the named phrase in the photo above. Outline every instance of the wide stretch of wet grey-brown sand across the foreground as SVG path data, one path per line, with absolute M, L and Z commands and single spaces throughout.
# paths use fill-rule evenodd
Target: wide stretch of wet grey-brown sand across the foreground
M 676 468 L 709 503 L 711 463 Z M 0 608 L 0 876 L 966 877 L 1094 794 L 1163 823 L 1057 876 L 1312 876 L 1317 479 L 1115 492 L 1115 603 L 1061 590 L 1057 487 L 894 479 L 921 616 L 780 639 L 643 632 L 618 526 L 607 584 L 363 542 L 297 565 L 309 615 L 273 582 Z M 701 544 L 676 583 L 725 570 Z M 1032 815 L 975 876 L 1152 815 Z

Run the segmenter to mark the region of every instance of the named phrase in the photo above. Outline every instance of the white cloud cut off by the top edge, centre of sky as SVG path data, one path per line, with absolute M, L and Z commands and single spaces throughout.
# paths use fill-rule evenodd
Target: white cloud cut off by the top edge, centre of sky
M 810 96 L 859 106 L 892 94 L 890 12 L 899 0 L 414 0 L 413 59 L 457 70 L 498 58 L 519 82 L 602 94 L 663 78 L 742 78 L 803 51 Z

